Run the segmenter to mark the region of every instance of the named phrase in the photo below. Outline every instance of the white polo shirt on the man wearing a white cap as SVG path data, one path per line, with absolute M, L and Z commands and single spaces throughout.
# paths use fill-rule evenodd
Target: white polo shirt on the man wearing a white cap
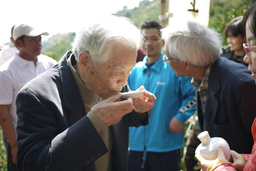
M 16 53 L 0 67 L 0 105 L 11 104 L 10 115 L 16 130 L 17 115 L 15 100 L 19 90 L 31 79 L 50 70 L 56 61 L 46 55 L 38 55 L 36 66 Z

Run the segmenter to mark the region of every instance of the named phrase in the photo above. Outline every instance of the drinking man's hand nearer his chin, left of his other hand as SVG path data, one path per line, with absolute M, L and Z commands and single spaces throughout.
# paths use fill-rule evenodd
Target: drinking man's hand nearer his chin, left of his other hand
M 122 117 L 133 111 L 133 99 L 120 101 L 121 93 L 105 99 L 91 108 L 91 112 L 96 115 L 105 126 L 118 123 Z

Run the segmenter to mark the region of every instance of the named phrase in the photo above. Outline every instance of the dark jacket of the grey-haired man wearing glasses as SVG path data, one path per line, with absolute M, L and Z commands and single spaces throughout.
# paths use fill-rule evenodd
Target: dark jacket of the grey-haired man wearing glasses
M 201 131 L 224 138 L 230 149 L 245 154 L 251 153 L 251 125 L 256 116 L 256 85 L 250 75 L 241 63 L 219 57 L 210 68 L 204 115 L 197 93 Z

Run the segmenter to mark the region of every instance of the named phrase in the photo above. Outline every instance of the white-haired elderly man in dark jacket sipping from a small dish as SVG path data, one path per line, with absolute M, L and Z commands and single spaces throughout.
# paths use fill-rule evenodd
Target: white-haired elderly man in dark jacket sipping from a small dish
M 19 170 L 127 169 L 129 126 L 147 124 L 156 100 L 147 91 L 121 99 L 140 44 L 130 20 L 95 20 L 53 70 L 20 90 Z

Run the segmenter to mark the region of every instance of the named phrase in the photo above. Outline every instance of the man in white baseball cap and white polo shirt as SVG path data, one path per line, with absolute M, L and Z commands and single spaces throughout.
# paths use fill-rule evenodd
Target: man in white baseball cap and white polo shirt
M 16 95 L 28 81 L 51 69 L 56 63 L 54 59 L 40 54 L 41 35 L 49 33 L 27 24 L 14 26 L 12 33 L 19 53 L 0 67 L 0 124 L 9 142 L 8 170 L 16 170 Z

